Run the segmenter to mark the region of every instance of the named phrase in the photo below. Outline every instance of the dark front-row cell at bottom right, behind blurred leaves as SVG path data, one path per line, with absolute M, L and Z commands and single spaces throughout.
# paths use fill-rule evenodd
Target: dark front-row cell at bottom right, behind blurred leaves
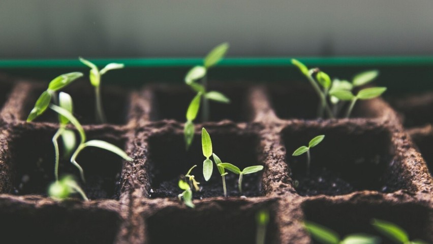
M 433 243 L 433 216 L 431 210 L 416 203 L 332 203 L 327 200 L 305 201 L 304 218 L 336 231 L 341 237 L 354 233 L 366 233 L 382 238 L 382 244 L 392 244 L 371 225 L 372 219 L 392 222 L 405 229 L 411 239 Z M 314 242 L 319 243 L 319 242 Z

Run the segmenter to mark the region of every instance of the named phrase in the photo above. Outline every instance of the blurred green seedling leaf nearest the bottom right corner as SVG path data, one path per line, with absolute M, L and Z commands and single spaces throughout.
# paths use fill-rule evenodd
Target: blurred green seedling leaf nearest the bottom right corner
M 383 235 L 397 244 L 427 244 L 423 240 L 410 240 L 408 233 L 394 223 L 373 219 L 372 225 Z

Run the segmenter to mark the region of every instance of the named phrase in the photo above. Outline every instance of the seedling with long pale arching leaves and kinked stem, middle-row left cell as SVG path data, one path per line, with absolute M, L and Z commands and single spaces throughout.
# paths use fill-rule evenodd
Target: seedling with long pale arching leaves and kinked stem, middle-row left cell
M 84 132 L 83 127 L 81 126 L 80 122 L 66 109 L 55 106 L 54 104 L 51 104 L 50 109 L 54 110 L 56 113 L 60 114 L 61 116 L 64 116 L 66 119 L 68 119 L 78 130 L 78 133 L 80 134 L 80 144 L 78 145 L 75 152 L 72 154 L 71 157 L 71 163 L 74 164 L 80 171 L 81 180 L 85 182 L 84 180 L 84 172 L 81 166 L 77 163 L 76 159 L 79 155 L 79 153 L 86 147 L 97 147 L 101 149 L 105 149 L 107 151 L 110 151 L 112 153 L 115 153 L 122 157 L 123 159 L 127 161 L 132 161 L 132 158 L 129 157 L 126 152 L 118 148 L 117 146 L 114 146 L 113 144 L 101 141 L 101 140 L 91 140 L 86 141 L 86 134 Z

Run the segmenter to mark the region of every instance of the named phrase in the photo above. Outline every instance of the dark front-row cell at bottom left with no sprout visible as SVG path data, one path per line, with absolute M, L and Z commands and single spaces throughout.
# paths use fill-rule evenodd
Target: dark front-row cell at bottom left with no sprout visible
M 106 210 L 55 205 L 0 207 L 2 243 L 113 243 L 120 218 Z

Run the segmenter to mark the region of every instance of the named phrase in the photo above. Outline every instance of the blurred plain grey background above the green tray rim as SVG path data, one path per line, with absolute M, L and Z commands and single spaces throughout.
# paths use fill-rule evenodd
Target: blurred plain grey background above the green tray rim
M 433 55 L 433 1 L 0 0 L 0 59 Z

